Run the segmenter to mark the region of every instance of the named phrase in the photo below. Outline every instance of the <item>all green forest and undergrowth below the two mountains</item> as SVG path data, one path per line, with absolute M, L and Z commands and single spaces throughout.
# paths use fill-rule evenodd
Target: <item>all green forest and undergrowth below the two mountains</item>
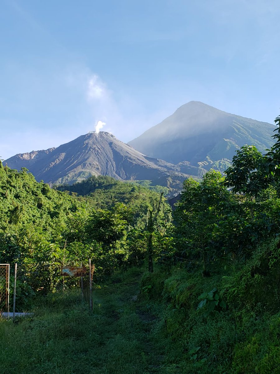
M 279 127 L 274 138 L 186 180 L 173 213 L 164 191 L 102 176 L 51 189 L 0 165 L 0 262 L 18 263 L 17 308 L 35 313 L 1 321 L 4 372 L 280 373 Z M 60 276 L 88 258 L 93 311 Z M 13 341 L 35 361 L 17 363 Z

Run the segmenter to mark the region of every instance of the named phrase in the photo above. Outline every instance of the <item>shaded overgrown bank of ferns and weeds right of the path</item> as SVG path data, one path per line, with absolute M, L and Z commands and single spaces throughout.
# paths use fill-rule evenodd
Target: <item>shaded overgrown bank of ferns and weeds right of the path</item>
M 161 303 L 154 334 L 180 373 L 280 373 L 279 246 L 217 262 L 210 277 L 181 266 L 144 274 L 142 297 Z

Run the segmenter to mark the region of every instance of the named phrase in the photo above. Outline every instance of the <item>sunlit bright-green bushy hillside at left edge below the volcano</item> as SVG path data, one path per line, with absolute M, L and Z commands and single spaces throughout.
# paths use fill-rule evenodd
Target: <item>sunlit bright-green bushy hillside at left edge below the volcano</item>
M 1 230 L 34 224 L 53 230 L 78 203 L 71 197 L 53 191 L 46 183 L 37 183 L 27 169 L 21 172 L 0 165 Z

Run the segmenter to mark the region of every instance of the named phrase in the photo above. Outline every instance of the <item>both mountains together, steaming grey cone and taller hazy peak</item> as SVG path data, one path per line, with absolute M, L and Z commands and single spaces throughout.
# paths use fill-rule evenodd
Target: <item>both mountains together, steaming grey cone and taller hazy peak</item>
M 108 132 L 92 132 L 57 148 L 16 154 L 6 163 L 12 169 L 25 167 L 38 181 L 50 184 L 109 175 L 151 180 L 175 192 L 189 176 L 201 177 L 210 168 L 226 169 L 243 144 L 255 144 L 260 151 L 269 148 L 274 129 L 270 123 L 191 101 L 129 144 Z

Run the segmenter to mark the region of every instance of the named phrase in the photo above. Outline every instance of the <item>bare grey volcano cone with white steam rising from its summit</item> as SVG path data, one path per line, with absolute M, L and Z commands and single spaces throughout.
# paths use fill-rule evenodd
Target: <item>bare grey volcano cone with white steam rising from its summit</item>
M 57 148 L 16 154 L 6 163 L 12 169 L 25 167 L 37 181 L 50 184 L 72 184 L 91 175 L 109 175 L 120 180 L 152 180 L 154 184 L 180 188 L 190 174 L 205 172 L 188 163 L 176 166 L 144 156 L 103 131 L 81 135 Z M 184 172 L 180 172 L 181 167 Z

